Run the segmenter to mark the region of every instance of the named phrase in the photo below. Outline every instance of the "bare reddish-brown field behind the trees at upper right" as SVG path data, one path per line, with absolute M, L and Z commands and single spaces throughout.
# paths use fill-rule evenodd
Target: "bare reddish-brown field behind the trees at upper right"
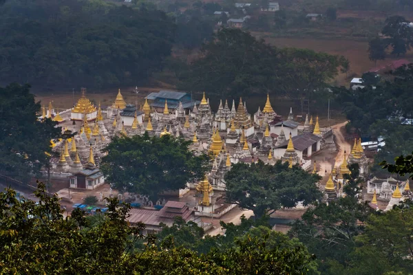
M 253 33 L 255 36 L 264 37 L 268 43 L 277 47 L 297 47 L 315 50 L 317 52 L 327 52 L 329 54 L 340 54 L 348 58 L 350 61 L 350 72 L 348 76 L 356 74 L 361 76 L 369 69 L 376 67 L 374 62 L 368 59 L 368 43 L 363 41 L 351 40 L 324 40 L 324 39 L 293 39 L 293 38 L 271 38 L 262 33 Z M 413 62 L 413 52 L 410 51 L 406 56 L 399 58 L 389 57 L 384 61 L 377 61 L 377 66 L 386 65 L 398 59 L 407 59 Z M 340 74 L 337 77 L 337 85 L 348 85 L 346 74 Z

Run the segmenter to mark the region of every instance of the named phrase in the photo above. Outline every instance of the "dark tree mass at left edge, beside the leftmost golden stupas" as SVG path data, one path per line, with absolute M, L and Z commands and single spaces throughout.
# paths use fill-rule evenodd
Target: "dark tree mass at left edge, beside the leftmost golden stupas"
M 41 106 L 34 102 L 30 85 L 0 87 L 0 173 L 27 181 L 49 164 L 50 140 L 59 137 L 56 122 L 37 118 Z M 27 154 L 27 158 L 25 157 Z

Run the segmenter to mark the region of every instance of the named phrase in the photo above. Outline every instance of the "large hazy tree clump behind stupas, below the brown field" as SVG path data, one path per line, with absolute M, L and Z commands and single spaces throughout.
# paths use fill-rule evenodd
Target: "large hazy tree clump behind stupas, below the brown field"
M 182 74 L 179 87 L 223 97 L 271 93 L 299 98 L 325 87 L 339 67 L 348 65 L 340 56 L 279 50 L 248 32 L 226 28 L 201 52 L 201 58 Z

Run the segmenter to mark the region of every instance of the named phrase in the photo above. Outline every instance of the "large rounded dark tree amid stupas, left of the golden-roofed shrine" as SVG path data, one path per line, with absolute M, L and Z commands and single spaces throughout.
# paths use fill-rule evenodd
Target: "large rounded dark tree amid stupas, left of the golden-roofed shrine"
M 105 148 L 100 169 L 107 181 L 121 192 L 138 192 L 156 199 L 160 192 L 184 188 L 204 176 L 206 155 L 196 157 L 190 141 L 171 135 L 114 137 Z

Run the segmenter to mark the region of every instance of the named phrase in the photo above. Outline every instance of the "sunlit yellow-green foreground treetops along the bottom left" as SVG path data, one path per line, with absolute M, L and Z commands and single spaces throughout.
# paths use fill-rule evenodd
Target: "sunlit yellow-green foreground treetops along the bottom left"
M 16 199 L 12 189 L 0 193 L 3 274 L 306 274 L 314 267 L 313 256 L 297 240 L 262 227 L 232 248 L 200 256 L 175 247 L 171 236 L 156 245 L 153 236 L 140 234 L 142 223 L 128 226 L 130 206 L 116 199 L 109 199 L 109 210 L 96 219 L 79 209 L 63 219 L 58 197 L 48 197 L 44 187 L 39 184 L 35 192 L 38 204 Z M 179 230 L 187 226 L 182 221 L 174 226 L 178 223 Z M 142 240 L 147 245 L 136 250 Z

